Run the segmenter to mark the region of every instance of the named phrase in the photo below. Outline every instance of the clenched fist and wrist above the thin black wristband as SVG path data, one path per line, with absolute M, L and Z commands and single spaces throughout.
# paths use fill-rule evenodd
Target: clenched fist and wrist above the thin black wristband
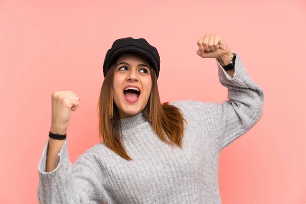
M 72 91 L 56 91 L 51 95 L 52 98 L 52 123 L 51 131 L 65 134 L 70 121 L 71 111 L 77 110 L 80 97 Z

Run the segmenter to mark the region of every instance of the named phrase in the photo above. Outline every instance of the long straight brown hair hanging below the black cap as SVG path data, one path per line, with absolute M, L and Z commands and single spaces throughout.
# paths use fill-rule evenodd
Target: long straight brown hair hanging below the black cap
M 113 99 L 113 82 L 116 60 L 106 73 L 98 100 L 99 139 L 105 145 L 126 160 L 132 160 L 127 155 L 122 144 L 122 132 L 119 110 Z M 161 104 L 157 86 L 157 75 L 150 66 L 152 88 L 148 103 L 143 109 L 143 116 L 151 124 L 153 130 L 167 144 L 178 145 L 182 148 L 184 136 L 184 121 L 181 110 L 168 102 Z M 165 137 L 166 135 L 166 137 Z M 167 138 L 170 140 L 168 141 Z

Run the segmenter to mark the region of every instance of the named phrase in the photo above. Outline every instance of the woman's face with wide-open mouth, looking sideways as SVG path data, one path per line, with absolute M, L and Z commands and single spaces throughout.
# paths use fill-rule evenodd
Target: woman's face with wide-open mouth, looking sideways
M 149 63 L 141 56 L 124 53 L 116 61 L 114 73 L 114 101 L 120 119 L 142 112 L 152 87 Z

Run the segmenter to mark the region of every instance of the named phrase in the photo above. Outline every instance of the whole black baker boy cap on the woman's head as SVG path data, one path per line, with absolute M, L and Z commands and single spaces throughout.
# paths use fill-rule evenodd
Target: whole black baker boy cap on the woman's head
M 150 45 L 144 38 L 134 39 L 131 37 L 117 39 L 113 43 L 112 48 L 107 51 L 103 64 L 104 77 L 112 62 L 119 57 L 119 55 L 125 52 L 137 53 L 146 58 L 152 64 L 158 78 L 160 71 L 160 57 L 157 49 Z

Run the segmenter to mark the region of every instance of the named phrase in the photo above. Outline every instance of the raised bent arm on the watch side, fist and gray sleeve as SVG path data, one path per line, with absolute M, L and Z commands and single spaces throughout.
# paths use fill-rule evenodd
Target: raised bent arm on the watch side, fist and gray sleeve
M 263 115 L 264 92 L 247 73 L 240 56 L 232 53 L 219 35 L 206 34 L 198 41 L 197 54 L 202 58 L 215 58 L 219 68 L 219 81 L 228 88 L 222 104 L 212 103 L 219 128 L 220 150 L 251 129 Z M 236 56 L 235 69 L 225 71 Z

